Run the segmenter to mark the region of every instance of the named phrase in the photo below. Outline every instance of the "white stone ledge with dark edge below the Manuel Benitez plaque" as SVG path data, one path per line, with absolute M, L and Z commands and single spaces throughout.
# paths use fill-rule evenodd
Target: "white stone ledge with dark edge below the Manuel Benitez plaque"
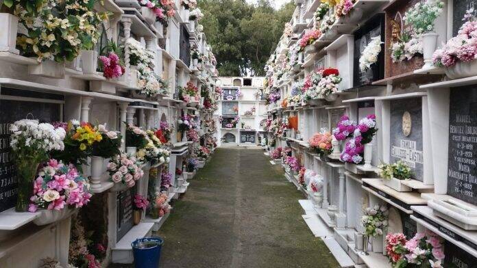
M 477 247 L 477 232 L 463 230 L 436 217 L 429 206 L 411 206 L 411 209 L 415 211 L 411 215 L 411 219 L 477 258 L 477 250 L 475 250 Z M 472 246 L 467 244 L 472 244 Z

